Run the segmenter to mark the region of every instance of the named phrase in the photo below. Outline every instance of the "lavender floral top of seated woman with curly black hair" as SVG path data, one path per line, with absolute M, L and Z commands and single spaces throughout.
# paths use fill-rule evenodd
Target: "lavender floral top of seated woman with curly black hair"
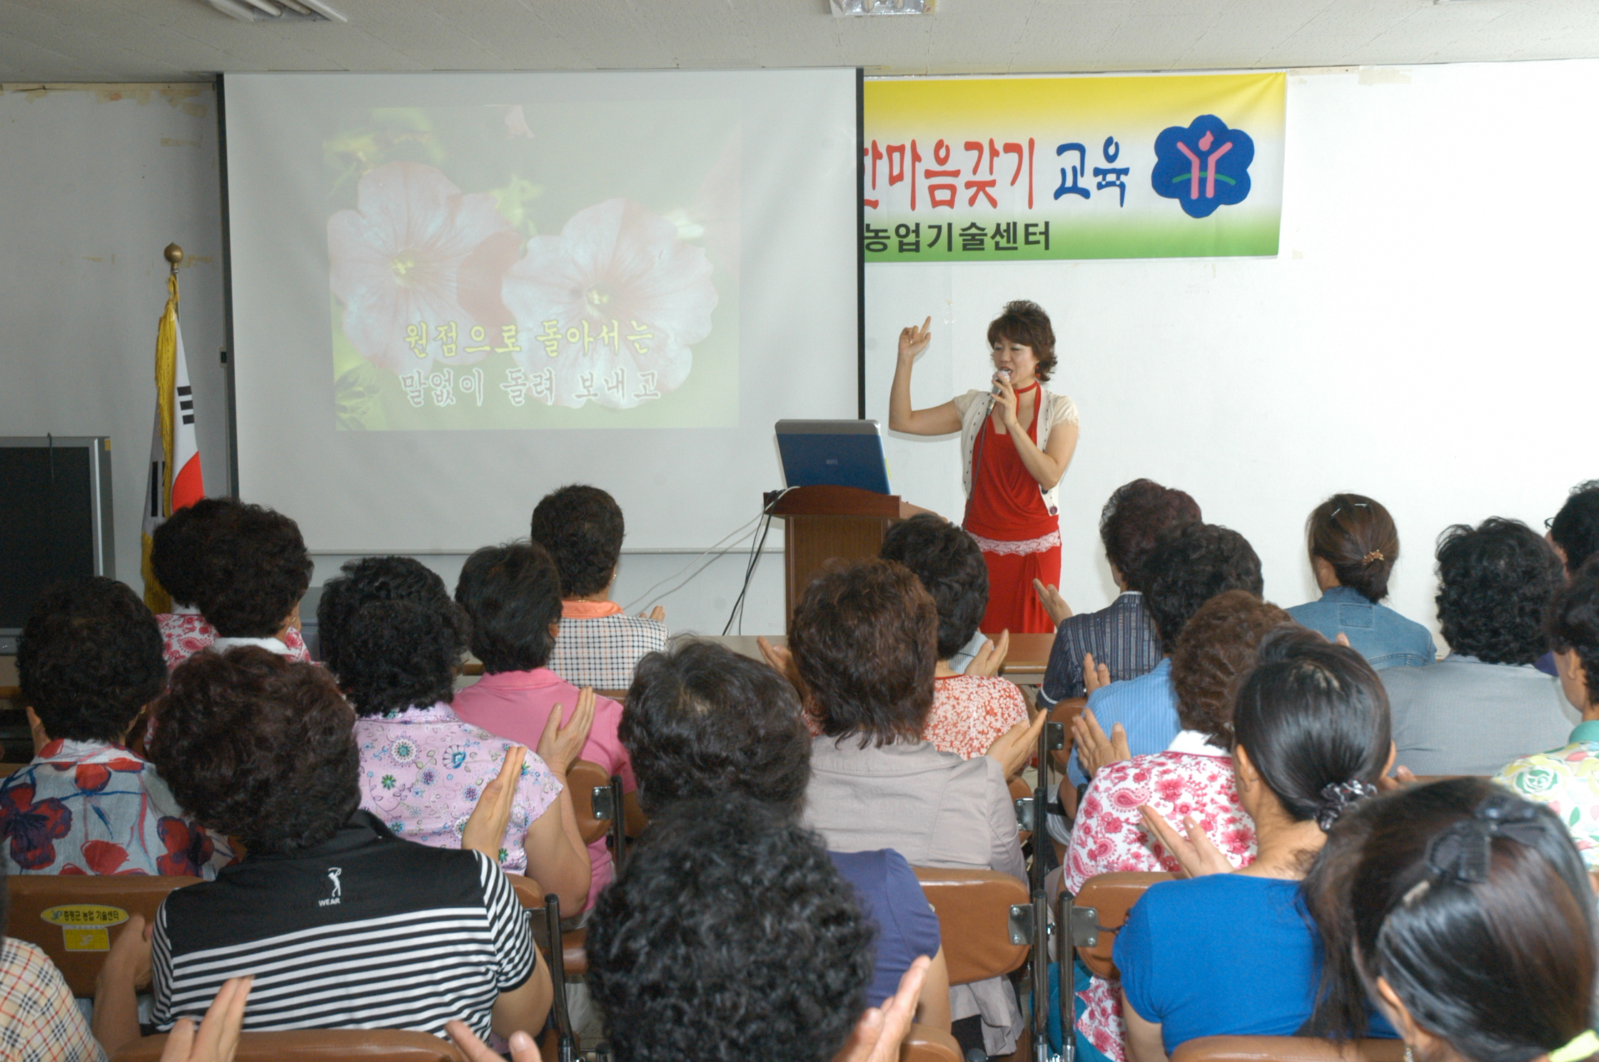
M 395 836 L 433 848 L 461 848 L 461 833 L 483 787 L 499 774 L 512 742 L 464 723 L 448 704 L 355 720 L 361 745 L 361 808 Z M 500 870 L 528 872 L 528 827 L 560 798 L 561 784 L 532 749 L 521 765 L 516 800 L 500 849 Z

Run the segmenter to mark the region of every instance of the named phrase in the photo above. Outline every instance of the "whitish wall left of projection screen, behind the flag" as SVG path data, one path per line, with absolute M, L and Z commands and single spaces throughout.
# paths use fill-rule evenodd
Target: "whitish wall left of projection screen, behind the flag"
M 136 589 L 174 242 L 206 489 L 227 493 L 214 107 L 208 85 L 0 94 L 0 435 L 110 435 L 117 574 Z

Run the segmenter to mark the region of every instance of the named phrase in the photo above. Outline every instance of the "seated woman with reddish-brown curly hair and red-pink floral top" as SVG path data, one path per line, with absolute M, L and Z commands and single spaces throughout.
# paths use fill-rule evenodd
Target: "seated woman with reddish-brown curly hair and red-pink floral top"
M 1233 781 L 1233 699 L 1255 665 L 1260 640 L 1286 624 L 1292 624 L 1287 613 L 1247 590 L 1218 593 L 1194 613 L 1172 653 L 1183 729 L 1166 752 L 1094 773 L 1071 830 L 1062 889 L 1076 896 L 1094 875 L 1116 870 L 1180 872 L 1177 857 L 1145 828 L 1145 806 L 1174 822 L 1196 822 L 1233 867 L 1254 862 L 1255 824 Z M 1087 969 L 1076 980 L 1078 1030 L 1107 1057 L 1124 1057 L 1119 987 Z

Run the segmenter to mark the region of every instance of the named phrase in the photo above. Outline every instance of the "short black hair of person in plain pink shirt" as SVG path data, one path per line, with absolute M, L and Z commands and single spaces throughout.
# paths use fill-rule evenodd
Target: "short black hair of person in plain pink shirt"
M 550 662 L 561 621 L 561 576 L 537 542 L 484 545 L 467 558 L 456 600 L 472 619 L 472 654 L 486 675 Z

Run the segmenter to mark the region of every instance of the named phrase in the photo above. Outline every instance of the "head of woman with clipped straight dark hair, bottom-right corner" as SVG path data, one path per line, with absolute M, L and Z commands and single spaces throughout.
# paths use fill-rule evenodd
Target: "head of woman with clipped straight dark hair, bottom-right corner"
M 1546 806 L 1479 777 L 1406 787 L 1350 816 L 1327 856 L 1310 892 L 1327 964 L 1305 1032 L 1358 1036 L 1375 1004 L 1407 1059 L 1599 1051 L 1593 886 Z

